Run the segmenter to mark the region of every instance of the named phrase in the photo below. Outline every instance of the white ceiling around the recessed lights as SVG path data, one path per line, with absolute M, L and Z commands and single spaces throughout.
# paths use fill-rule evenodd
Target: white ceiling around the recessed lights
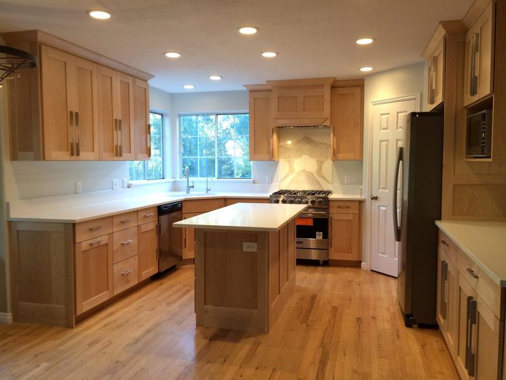
M 421 61 L 437 22 L 472 0 L 0 0 L 0 32 L 40 29 L 155 75 L 167 92 L 244 89 L 291 78 L 361 78 Z M 108 21 L 86 11 L 109 10 Z M 241 25 L 260 31 L 236 32 Z M 376 43 L 355 40 L 373 36 Z M 176 60 L 166 51 L 181 52 Z M 279 52 L 275 59 L 260 53 Z M 223 76 L 212 82 L 211 74 Z

